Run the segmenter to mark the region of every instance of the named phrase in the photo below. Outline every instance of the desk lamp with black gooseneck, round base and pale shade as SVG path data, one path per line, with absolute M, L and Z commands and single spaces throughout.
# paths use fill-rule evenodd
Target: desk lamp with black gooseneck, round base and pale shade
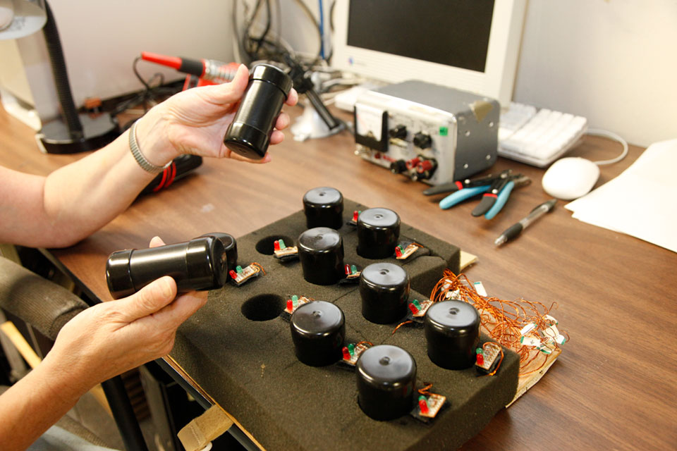
M 61 116 L 42 125 L 36 139 L 49 154 L 73 154 L 103 147 L 119 135 L 108 113 L 96 117 L 78 114 L 68 82 L 66 61 L 56 21 L 45 0 L 0 0 L 0 39 L 17 39 L 42 29 L 59 97 Z

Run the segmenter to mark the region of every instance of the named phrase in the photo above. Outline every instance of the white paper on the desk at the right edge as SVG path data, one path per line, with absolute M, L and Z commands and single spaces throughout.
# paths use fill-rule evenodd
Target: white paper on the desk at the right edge
M 580 221 L 677 252 L 677 140 L 652 144 L 621 175 L 565 208 Z

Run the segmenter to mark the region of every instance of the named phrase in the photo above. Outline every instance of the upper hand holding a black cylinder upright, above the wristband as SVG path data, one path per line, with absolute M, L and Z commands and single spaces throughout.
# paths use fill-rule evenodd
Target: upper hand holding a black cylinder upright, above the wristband
M 137 125 L 140 148 L 146 154 L 157 153 L 152 163 L 169 161 L 180 154 L 195 154 L 219 158 L 233 158 L 255 163 L 267 163 L 270 155 L 252 160 L 231 152 L 224 145 L 228 125 L 238 109 L 249 80 L 249 72 L 240 65 L 235 78 L 221 85 L 194 87 L 170 97 L 151 109 Z M 298 94 L 291 89 L 286 104 L 293 106 Z M 271 144 L 284 138 L 281 131 L 289 125 L 289 116 L 280 113 L 270 137 Z

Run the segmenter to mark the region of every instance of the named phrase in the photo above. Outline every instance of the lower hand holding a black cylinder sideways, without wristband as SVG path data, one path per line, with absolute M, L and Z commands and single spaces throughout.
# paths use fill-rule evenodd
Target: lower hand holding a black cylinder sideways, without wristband
M 164 243 L 155 237 L 151 247 Z M 169 276 L 129 297 L 90 307 L 68 321 L 44 362 L 55 374 L 92 386 L 171 351 L 176 329 L 207 302 L 207 292 L 176 297 Z

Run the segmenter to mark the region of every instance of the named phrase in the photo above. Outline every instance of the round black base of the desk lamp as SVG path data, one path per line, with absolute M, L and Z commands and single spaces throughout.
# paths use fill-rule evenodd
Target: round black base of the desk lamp
M 120 135 L 120 127 L 109 113 L 91 118 L 87 114 L 80 114 L 80 123 L 83 125 L 83 136 L 73 138 L 66 123 L 61 118 L 46 123 L 36 135 L 40 151 L 46 154 L 75 154 L 97 150 Z

